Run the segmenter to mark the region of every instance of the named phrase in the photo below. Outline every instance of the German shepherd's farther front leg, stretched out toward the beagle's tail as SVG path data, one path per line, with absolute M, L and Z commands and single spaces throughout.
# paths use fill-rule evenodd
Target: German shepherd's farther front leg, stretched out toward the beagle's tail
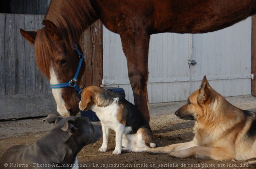
M 197 146 L 197 144 L 195 143 L 194 140 L 192 140 L 190 142 L 171 144 L 165 147 L 152 148 L 146 151 L 149 152 L 150 154 L 168 154 L 173 151 L 184 150 L 194 146 Z

